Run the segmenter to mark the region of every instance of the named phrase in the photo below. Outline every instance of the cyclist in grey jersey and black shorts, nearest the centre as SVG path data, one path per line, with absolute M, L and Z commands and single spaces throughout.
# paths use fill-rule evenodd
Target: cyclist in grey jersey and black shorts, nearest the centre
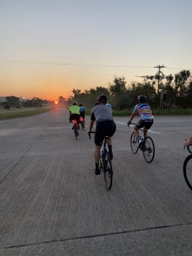
M 102 145 L 102 141 L 105 136 L 109 136 L 108 138 L 108 148 L 109 148 L 109 156 L 111 160 L 113 159 L 112 152 L 112 138 L 113 134 L 116 131 L 116 124 L 113 121 L 112 110 L 106 106 L 108 102 L 108 98 L 106 95 L 100 95 L 97 99 L 98 105 L 92 109 L 91 120 L 90 120 L 90 128 L 88 132 L 92 131 L 94 122 L 96 122 L 95 129 L 95 174 L 100 174 L 99 170 L 99 159 L 100 159 L 100 148 Z

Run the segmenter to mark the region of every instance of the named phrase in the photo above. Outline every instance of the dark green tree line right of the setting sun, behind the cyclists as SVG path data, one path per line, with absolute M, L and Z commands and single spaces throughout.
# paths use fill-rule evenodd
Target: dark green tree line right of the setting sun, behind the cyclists
M 81 92 L 79 89 L 72 90 L 73 95 L 68 99 L 60 96 L 59 104 L 69 105 L 72 100 L 82 103 L 87 108 L 92 108 L 100 94 L 108 97 L 109 103 L 115 109 L 129 109 L 138 102 L 138 95 L 147 96 L 147 102 L 153 108 L 159 108 L 160 100 L 163 108 L 192 108 L 192 80 L 189 70 L 181 70 L 177 74 L 168 76 L 143 76 L 143 82 L 127 84 L 125 77 L 115 76 L 108 88 L 97 86 Z M 163 97 L 163 98 L 162 98 Z

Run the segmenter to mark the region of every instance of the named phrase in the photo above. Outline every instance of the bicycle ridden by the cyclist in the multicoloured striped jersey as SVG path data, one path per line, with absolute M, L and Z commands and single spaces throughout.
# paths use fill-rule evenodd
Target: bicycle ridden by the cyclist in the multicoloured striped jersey
M 134 124 L 134 123 L 131 123 L 131 124 Z M 139 129 L 139 130 L 142 131 L 144 134 L 143 129 Z M 145 129 L 145 132 L 147 132 L 147 129 Z M 132 151 L 132 153 L 136 154 L 138 152 L 139 148 L 143 152 L 143 157 L 144 157 L 145 161 L 147 163 L 151 163 L 155 156 L 154 141 L 152 140 L 152 138 L 150 136 L 147 136 L 146 138 L 144 138 L 144 135 L 143 135 L 142 141 L 141 141 L 140 145 L 138 145 L 137 135 L 134 132 L 132 132 L 132 134 L 131 134 L 131 151 Z

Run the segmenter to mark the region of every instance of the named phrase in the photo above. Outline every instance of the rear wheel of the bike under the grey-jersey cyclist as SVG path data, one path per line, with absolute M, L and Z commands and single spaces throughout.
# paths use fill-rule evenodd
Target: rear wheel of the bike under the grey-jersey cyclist
M 113 182 L 113 170 L 112 170 L 111 158 L 107 150 L 104 157 L 103 172 L 104 172 L 104 180 L 105 180 L 106 188 L 110 190 Z

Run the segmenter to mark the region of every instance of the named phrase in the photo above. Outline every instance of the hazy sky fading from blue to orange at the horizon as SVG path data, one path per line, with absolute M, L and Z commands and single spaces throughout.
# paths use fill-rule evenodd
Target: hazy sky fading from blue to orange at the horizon
M 191 0 L 0 0 L 0 96 L 57 100 L 192 71 Z

